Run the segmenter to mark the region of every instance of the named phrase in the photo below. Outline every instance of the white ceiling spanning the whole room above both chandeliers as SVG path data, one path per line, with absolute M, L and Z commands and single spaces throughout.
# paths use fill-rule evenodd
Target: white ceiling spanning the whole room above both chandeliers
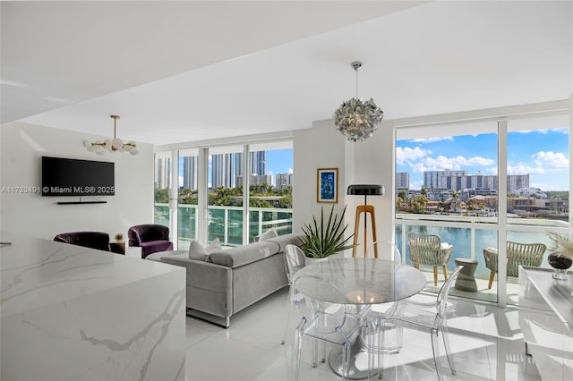
M 2 123 L 164 145 L 569 98 L 570 1 L 2 2 Z

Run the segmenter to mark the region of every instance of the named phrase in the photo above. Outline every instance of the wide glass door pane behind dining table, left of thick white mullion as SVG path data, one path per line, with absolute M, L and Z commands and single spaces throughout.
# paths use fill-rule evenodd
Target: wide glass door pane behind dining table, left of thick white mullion
M 483 258 L 483 248 L 498 241 L 497 123 L 397 129 L 395 183 L 396 240 L 406 264 L 414 264 L 410 232 L 435 234 L 442 245 L 453 246 L 450 258 L 437 266 L 437 285 L 433 265 L 421 264 L 429 281 L 426 291 L 439 292 L 445 277 L 463 264 L 471 268 L 475 285 L 454 287 L 452 293 L 497 301 L 496 289 L 487 288 L 490 273 Z

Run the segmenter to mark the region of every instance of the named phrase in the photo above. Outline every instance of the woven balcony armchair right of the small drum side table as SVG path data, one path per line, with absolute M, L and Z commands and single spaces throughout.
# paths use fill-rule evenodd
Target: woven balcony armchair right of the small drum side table
M 543 243 L 508 241 L 506 245 L 508 276 L 517 278 L 519 276 L 519 266 L 540 267 L 545 250 L 547 250 L 547 246 Z M 496 248 L 483 249 L 483 258 L 485 258 L 485 267 L 491 271 L 490 282 L 487 285 L 487 288 L 491 289 L 493 278 L 498 272 L 498 250 Z

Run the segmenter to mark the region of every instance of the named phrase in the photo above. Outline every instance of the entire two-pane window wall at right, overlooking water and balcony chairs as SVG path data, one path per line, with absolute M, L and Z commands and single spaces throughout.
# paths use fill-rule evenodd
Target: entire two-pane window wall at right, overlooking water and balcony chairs
M 517 274 L 510 271 L 514 262 L 506 258 L 506 241 L 549 248 L 549 231 L 569 232 L 569 114 L 397 128 L 395 183 L 396 239 L 406 263 L 407 233 L 437 234 L 454 246 L 448 271 L 456 258 L 474 262 L 475 291 L 453 292 L 517 303 Z M 488 266 L 484 250 L 495 253 L 488 258 L 497 258 L 496 266 Z M 546 257 L 547 252 L 535 266 L 548 267 Z M 432 267 L 426 270 L 432 280 Z M 430 282 L 429 291 L 442 284 L 440 267 L 439 273 L 440 283 Z

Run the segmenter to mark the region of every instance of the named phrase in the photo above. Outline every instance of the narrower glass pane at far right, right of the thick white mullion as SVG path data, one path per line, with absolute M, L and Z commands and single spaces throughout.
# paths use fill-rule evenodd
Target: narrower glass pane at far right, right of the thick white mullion
M 569 234 L 569 117 L 567 114 L 526 116 L 508 121 L 507 241 L 543 243 L 548 232 Z M 507 253 L 507 301 L 517 304 L 517 271 L 550 267 L 545 251 L 517 261 Z

